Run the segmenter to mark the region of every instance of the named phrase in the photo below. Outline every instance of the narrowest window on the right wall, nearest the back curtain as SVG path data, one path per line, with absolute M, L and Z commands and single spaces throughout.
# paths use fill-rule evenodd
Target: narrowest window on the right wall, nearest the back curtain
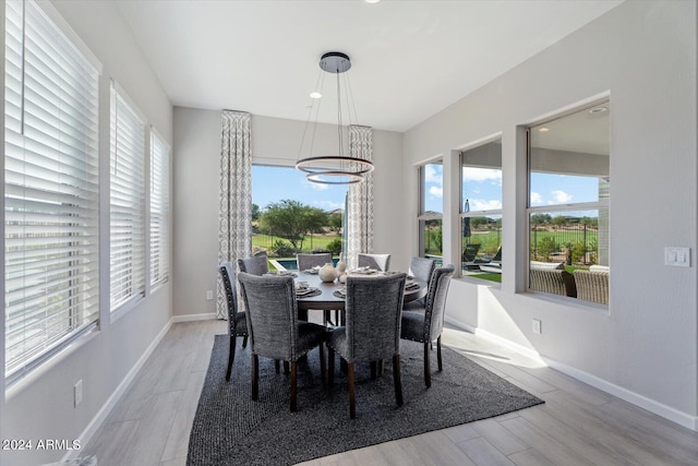
M 442 261 L 444 213 L 444 164 L 442 160 L 422 165 L 419 172 L 419 255 Z

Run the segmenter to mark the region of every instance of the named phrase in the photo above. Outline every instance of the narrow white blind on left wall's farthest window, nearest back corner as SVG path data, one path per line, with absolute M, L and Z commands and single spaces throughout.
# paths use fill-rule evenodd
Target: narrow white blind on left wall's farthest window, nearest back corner
M 151 286 L 169 277 L 169 211 L 170 211 L 169 147 L 154 132 L 151 133 Z

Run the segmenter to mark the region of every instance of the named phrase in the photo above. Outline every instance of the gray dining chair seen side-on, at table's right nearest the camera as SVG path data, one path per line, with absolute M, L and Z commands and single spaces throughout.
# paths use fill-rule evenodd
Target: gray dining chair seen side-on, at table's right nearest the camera
M 432 279 L 429 283 L 424 312 L 402 311 L 400 337 L 424 344 L 424 384 L 426 384 L 428 387 L 432 385 L 429 359 L 434 339 L 436 339 L 438 370 L 443 370 L 441 334 L 444 331 L 444 310 L 446 308 L 448 285 L 455 271 L 456 268 L 450 264 L 434 270 Z

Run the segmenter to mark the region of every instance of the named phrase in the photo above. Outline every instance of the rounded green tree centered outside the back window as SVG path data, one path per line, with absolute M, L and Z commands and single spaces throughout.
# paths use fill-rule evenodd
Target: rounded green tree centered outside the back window
M 298 201 L 285 199 L 266 206 L 260 215 L 260 230 L 287 239 L 296 251 L 303 248 L 309 232 L 326 225 L 327 214 Z

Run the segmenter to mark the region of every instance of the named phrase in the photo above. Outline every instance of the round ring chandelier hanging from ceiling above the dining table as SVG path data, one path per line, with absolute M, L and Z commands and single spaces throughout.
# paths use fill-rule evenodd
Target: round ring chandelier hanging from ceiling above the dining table
M 303 139 L 301 141 L 301 148 L 299 151 L 299 159 L 296 163 L 296 168 L 308 174 L 305 179 L 310 182 L 321 184 L 352 184 L 364 180 L 364 177 L 373 171 L 373 164 L 369 160 L 358 157 L 351 157 L 344 153 L 344 127 L 342 127 L 342 94 L 340 86 L 340 74 L 348 71 L 351 68 L 351 61 L 346 53 L 339 51 L 330 51 L 323 55 L 320 59 L 320 68 L 322 71 L 335 74 L 337 82 L 337 139 L 339 151 L 337 155 L 320 155 L 313 156 L 313 142 L 315 138 L 315 127 L 317 126 L 317 115 L 320 113 L 320 99 L 322 98 L 322 84 L 320 89 L 316 87 L 315 92 L 311 94 L 312 105 L 309 106 L 308 120 L 305 121 L 305 130 L 303 131 Z M 321 72 L 322 74 L 322 72 Z M 318 79 L 320 83 L 324 80 Z M 347 83 L 348 83 L 347 77 Z M 345 96 L 347 101 L 352 100 L 352 106 L 347 105 L 347 115 L 351 116 L 351 108 L 353 107 L 353 99 L 351 96 L 351 86 L 347 84 L 349 93 Z M 314 103 L 317 101 L 317 106 Z M 303 152 L 303 145 L 305 136 L 310 127 L 311 116 L 315 109 L 315 122 L 310 135 L 310 150 L 309 157 L 300 158 Z M 354 109 L 356 116 L 356 109 Z M 349 118 L 351 119 L 351 118 Z

